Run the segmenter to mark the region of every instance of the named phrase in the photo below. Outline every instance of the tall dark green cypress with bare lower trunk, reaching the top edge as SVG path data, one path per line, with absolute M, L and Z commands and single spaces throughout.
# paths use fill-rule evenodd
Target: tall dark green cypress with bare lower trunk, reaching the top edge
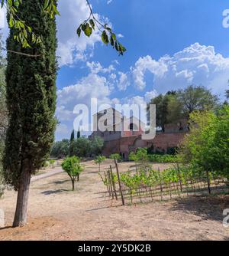
M 43 0 L 26 0 L 18 8 L 18 16 L 40 35 L 41 43 L 22 48 L 15 41 L 15 28 L 10 29 L 6 71 L 9 126 L 5 142 L 4 175 L 18 191 L 13 226 L 27 220 L 27 199 L 31 175 L 47 159 L 54 139 L 56 119 L 56 20 L 44 12 Z

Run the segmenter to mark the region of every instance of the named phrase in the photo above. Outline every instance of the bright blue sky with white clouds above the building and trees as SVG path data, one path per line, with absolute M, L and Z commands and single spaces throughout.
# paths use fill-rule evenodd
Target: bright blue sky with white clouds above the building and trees
M 145 103 L 167 90 L 202 84 L 223 99 L 229 79 L 229 28 L 222 25 L 222 13 L 229 2 L 90 2 L 98 18 L 120 35 L 127 52 L 118 57 L 98 33 L 78 39 L 76 28 L 89 15 L 85 0 L 59 1 L 56 139 L 69 137 L 74 106 L 89 104 L 91 97 L 98 103 Z

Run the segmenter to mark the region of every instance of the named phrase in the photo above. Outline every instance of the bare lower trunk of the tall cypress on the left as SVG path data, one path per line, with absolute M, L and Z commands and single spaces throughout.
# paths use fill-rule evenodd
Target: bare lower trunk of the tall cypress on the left
M 23 227 L 27 222 L 27 201 L 31 184 L 31 172 L 23 169 L 18 186 L 18 199 L 13 227 Z

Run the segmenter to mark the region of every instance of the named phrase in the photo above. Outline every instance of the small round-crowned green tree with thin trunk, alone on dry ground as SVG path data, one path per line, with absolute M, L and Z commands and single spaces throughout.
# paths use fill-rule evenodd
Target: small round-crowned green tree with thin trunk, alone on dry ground
M 80 159 L 77 156 L 72 156 L 64 159 L 62 163 L 63 170 L 70 177 L 73 184 L 73 191 L 75 190 L 76 179 L 79 181 L 79 174 L 83 171 L 83 166 L 80 164 Z

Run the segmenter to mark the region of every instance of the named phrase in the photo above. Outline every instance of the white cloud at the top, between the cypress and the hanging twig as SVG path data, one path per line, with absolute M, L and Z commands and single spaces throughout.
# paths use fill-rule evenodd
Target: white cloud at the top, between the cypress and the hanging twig
M 95 29 L 90 38 L 84 34 L 78 38 L 76 34 L 76 28 L 89 18 L 90 11 L 86 1 L 60 0 L 58 8 L 61 15 L 57 17 L 57 55 L 60 56 L 60 66 L 72 65 L 76 61 L 85 61 L 92 57 L 95 43 L 101 41 L 98 30 Z M 105 19 L 96 13 L 95 17 L 100 21 Z M 107 19 L 105 23 L 109 23 Z

